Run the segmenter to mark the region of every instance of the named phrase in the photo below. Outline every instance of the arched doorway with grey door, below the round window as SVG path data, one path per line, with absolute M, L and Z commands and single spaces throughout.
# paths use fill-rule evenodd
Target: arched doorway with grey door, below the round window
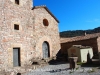
M 42 44 L 43 59 L 50 57 L 49 43 L 44 41 Z

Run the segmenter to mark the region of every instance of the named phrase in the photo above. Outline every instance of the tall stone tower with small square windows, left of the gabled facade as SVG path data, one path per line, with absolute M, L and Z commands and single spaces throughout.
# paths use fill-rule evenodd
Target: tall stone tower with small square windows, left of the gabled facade
M 3 45 L 0 43 L 0 48 L 2 48 L 0 49 L 0 52 L 2 52 L 2 54 L 0 54 L 0 62 L 3 64 L 2 67 L 13 66 L 13 50 L 15 48 L 20 49 L 20 63 L 21 66 L 24 65 L 24 61 L 26 60 L 22 57 L 27 59 L 27 56 L 24 56 L 26 52 L 24 42 L 26 40 L 23 41 L 21 38 L 25 37 L 25 39 L 27 39 L 26 37 L 29 37 L 28 35 L 31 35 L 33 31 L 30 22 L 32 7 L 33 0 L 0 0 L 0 39 L 3 43 Z M 11 41 L 4 41 L 4 39 L 10 38 L 12 39 Z M 4 47 L 5 45 L 6 48 Z M 19 50 L 17 50 L 17 53 L 18 51 Z

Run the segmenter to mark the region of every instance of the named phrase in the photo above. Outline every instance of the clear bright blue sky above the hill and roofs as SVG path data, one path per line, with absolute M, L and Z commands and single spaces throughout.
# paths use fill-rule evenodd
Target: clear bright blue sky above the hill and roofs
M 60 21 L 60 32 L 100 26 L 100 0 L 34 0 L 33 4 L 48 7 Z

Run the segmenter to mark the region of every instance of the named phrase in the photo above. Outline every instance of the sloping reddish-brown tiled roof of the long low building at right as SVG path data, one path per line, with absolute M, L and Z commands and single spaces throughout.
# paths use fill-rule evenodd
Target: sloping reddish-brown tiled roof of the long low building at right
M 61 43 L 66 43 L 66 42 L 73 42 L 73 41 L 80 41 L 80 40 L 86 40 L 86 39 L 91 39 L 91 38 L 97 38 L 99 36 L 100 36 L 100 33 L 86 34 L 85 36 L 76 36 L 76 37 L 71 37 L 71 38 L 61 38 L 60 41 L 61 41 Z

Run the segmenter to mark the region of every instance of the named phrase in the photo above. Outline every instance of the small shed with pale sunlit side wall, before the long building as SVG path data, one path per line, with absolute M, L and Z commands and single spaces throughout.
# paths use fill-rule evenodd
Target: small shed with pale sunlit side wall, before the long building
M 88 55 L 92 59 L 93 50 L 90 46 L 73 45 L 68 49 L 68 57 L 78 57 L 78 62 L 87 62 Z

